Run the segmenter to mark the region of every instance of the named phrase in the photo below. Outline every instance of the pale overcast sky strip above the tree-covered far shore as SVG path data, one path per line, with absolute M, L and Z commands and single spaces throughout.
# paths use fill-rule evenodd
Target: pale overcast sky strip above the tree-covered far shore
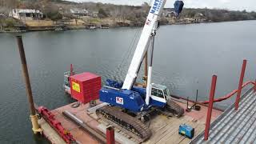
M 141 5 L 142 2 L 150 0 L 69 0 L 73 2 L 103 2 L 121 5 Z M 183 0 L 185 7 L 193 8 L 224 8 L 229 10 L 254 10 L 256 11 L 256 0 Z M 174 0 L 167 0 L 166 7 L 173 7 Z

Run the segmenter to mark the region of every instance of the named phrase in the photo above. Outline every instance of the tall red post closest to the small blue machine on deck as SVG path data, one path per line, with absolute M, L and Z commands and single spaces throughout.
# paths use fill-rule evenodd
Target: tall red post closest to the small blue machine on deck
M 204 138 L 205 141 L 207 141 L 209 137 L 210 118 L 211 118 L 211 113 L 214 106 L 214 94 L 216 89 L 216 82 L 217 82 L 217 76 L 213 75 L 213 78 L 211 80 L 210 98 L 209 98 L 207 118 L 206 118 L 206 129 L 205 129 L 205 138 Z

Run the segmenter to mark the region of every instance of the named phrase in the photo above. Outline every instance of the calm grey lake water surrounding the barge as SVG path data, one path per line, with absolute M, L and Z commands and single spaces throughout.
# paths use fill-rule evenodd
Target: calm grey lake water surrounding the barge
M 22 34 L 34 101 L 49 109 L 72 101 L 62 89 L 70 63 L 123 80 L 141 28 L 68 30 Z M 256 21 L 162 26 L 154 49 L 153 82 L 172 94 L 208 99 L 210 80 L 218 75 L 216 98 L 238 87 L 242 60 L 246 80 L 256 78 Z M 122 63 L 122 65 L 121 65 Z M 119 67 L 119 68 L 118 68 Z M 46 143 L 31 132 L 26 90 L 14 34 L 0 34 L 0 142 Z M 143 70 L 143 69 L 142 69 Z M 142 71 L 138 79 L 142 78 Z M 226 108 L 234 98 L 216 106 Z

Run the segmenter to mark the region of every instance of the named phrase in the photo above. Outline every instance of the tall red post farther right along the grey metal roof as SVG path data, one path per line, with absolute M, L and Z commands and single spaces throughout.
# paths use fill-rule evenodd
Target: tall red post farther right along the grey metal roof
M 240 101 L 240 96 L 241 96 L 241 91 L 242 91 L 242 82 L 243 82 L 243 78 L 244 78 L 245 72 L 246 72 L 246 63 L 247 63 L 247 61 L 243 60 L 242 71 L 241 71 L 240 80 L 239 80 L 239 84 L 238 84 L 238 95 L 235 100 L 235 110 L 238 110 L 238 107 L 239 107 L 239 101 Z

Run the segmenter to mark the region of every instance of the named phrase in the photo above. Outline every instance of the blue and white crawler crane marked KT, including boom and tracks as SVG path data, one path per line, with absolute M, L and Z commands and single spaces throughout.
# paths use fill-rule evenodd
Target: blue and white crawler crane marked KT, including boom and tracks
M 100 101 L 109 103 L 109 105 L 96 110 L 99 118 L 126 131 L 140 142 L 150 138 L 151 132 L 144 124 L 150 119 L 150 115 L 162 113 L 179 118 L 184 114 L 183 108 L 170 100 L 170 91 L 166 86 L 151 83 L 154 37 L 165 3 L 166 0 L 154 0 L 125 81 L 120 83 L 107 80 L 107 86 L 103 86 L 100 90 Z M 174 3 L 176 16 L 181 13 L 183 5 L 182 1 Z M 149 47 L 150 50 L 148 50 Z M 134 86 L 138 70 L 147 52 L 150 54 L 150 66 L 146 88 Z

